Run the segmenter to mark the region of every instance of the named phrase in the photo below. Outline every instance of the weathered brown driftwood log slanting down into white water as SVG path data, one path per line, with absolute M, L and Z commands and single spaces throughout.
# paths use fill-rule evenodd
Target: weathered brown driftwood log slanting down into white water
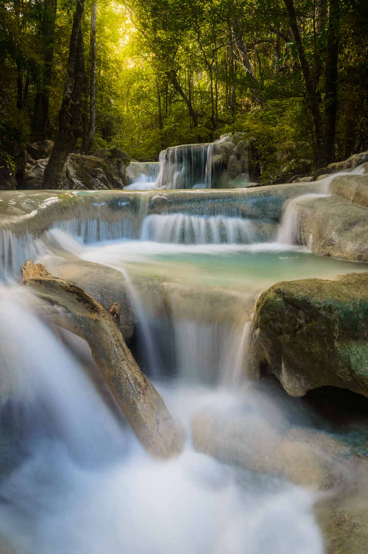
M 33 260 L 25 261 L 22 274 L 27 289 L 63 308 L 54 322 L 87 341 L 113 396 L 147 452 L 160 459 L 179 454 L 183 431 L 129 351 L 116 325 L 119 306 L 113 304 L 110 315 L 84 290 L 54 277 Z

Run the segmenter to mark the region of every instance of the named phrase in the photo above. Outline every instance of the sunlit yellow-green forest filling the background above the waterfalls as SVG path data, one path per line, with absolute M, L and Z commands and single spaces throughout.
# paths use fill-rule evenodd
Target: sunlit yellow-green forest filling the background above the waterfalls
M 0 0 L 0 21 L 6 140 L 55 140 L 63 109 L 74 151 L 141 161 L 242 132 L 263 179 L 368 148 L 366 0 Z

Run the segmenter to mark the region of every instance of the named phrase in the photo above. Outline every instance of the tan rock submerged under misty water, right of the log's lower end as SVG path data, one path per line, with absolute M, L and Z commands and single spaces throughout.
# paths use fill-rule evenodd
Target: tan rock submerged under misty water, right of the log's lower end
M 308 444 L 303 430 L 287 430 L 277 412 L 252 413 L 246 408 L 206 408 L 192 419 L 193 444 L 199 452 L 257 473 L 281 475 L 294 484 L 328 490 L 344 479 L 339 461 L 316 444 Z M 325 433 L 330 449 L 338 443 Z M 335 450 L 340 452 L 339 445 Z

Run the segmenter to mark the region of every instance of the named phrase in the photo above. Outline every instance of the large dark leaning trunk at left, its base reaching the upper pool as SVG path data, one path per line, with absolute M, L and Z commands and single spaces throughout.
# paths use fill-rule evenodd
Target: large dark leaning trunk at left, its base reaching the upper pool
M 68 74 L 63 104 L 59 111 L 59 129 L 48 165 L 46 166 L 43 188 L 58 189 L 62 186 L 63 169 L 66 158 L 81 136 L 81 100 L 84 78 L 84 55 L 81 18 L 84 0 L 77 0 L 70 35 Z

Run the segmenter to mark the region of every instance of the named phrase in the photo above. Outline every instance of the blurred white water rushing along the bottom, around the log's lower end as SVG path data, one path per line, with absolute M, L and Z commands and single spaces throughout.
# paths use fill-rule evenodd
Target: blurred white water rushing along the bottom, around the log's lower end
M 72 356 L 55 338 L 25 291 L 2 288 L 0 314 L 6 359 L 17 369 L 3 413 L 27 444 L 0 486 L 0 530 L 15 551 L 322 552 L 312 493 L 220 464 L 194 452 L 190 438 L 177 459 L 149 459 L 92 387 L 82 353 Z M 198 387 L 162 394 L 187 428 L 209 402 L 252 402 L 246 388 L 230 396 Z

